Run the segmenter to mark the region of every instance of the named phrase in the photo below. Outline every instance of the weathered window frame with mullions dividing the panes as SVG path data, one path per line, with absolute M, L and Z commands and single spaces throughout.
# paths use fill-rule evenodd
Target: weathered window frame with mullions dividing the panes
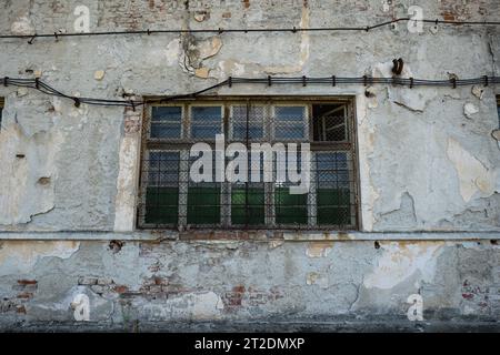
M 226 144 L 231 143 L 232 140 L 232 122 L 230 120 L 231 118 L 231 106 L 232 105 L 241 105 L 247 104 L 248 102 L 251 102 L 254 105 L 264 105 L 268 108 L 268 111 L 271 110 L 274 105 L 306 105 L 306 120 L 308 122 L 307 132 L 309 136 L 306 136 L 304 140 L 283 140 L 283 142 L 301 142 L 301 141 L 308 141 L 311 143 L 311 151 L 312 154 L 316 156 L 317 153 L 320 152 L 343 152 L 346 151 L 348 153 L 348 156 L 350 156 L 350 166 L 349 166 L 349 185 L 350 185 L 350 215 L 352 223 L 344 227 L 330 227 L 330 226 L 320 226 L 317 223 L 317 217 L 311 219 L 311 214 L 316 212 L 311 212 L 310 209 L 312 205 L 314 205 L 314 209 L 318 209 L 318 205 L 316 204 L 317 196 L 316 196 L 316 187 L 311 187 L 311 193 L 308 194 L 307 197 L 307 205 L 308 205 L 308 225 L 306 226 L 307 230 L 359 230 L 360 223 L 359 223 L 359 215 L 360 215 L 360 204 L 359 204 L 359 175 L 358 175 L 358 156 L 357 156 L 357 132 L 356 132 L 356 124 L 354 124 L 354 99 L 353 97 L 326 97 L 326 98 L 308 98 L 308 97 L 269 97 L 269 98 L 262 98 L 262 97 L 207 97 L 203 99 L 198 100 L 180 100 L 179 102 L 171 103 L 171 104 L 161 104 L 161 105 L 174 105 L 174 106 L 182 106 L 182 119 L 181 119 L 181 125 L 182 125 L 182 138 L 180 140 L 177 139 L 168 139 L 168 140 L 158 140 L 158 139 L 149 139 L 148 132 L 149 132 L 149 124 L 151 119 L 151 110 L 152 105 L 147 106 L 147 110 L 144 111 L 144 130 L 142 130 L 142 154 L 141 154 L 141 183 L 140 183 L 140 205 L 146 205 L 146 194 L 144 194 L 144 183 L 148 181 L 144 179 L 144 156 L 148 151 L 150 150 L 169 150 L 169 151 L 178 151 L 180 154 L 181 160 L 186 160 L 187 156 L 189 156 L 189 150 L 194 141 L 194 139 L 191 138 L 191 134 L 189 133 L 191 131 L 190 128 L 190 120 L 189 120 L 189 113 L 190 108 L 193 106 L 203 106 L 203 105 L 216 105 L 216 106 L 222 106 L 222 132 L 227 135 L 226 138 Z M 346 105 L 346 129 L 349 130 L 349 135 L 347 136 L 347 141 L 343 142 L 320 142 L 320 141 L 313 141 L 313 131 L 314 126 L 312 124 L 313 119 L 313 105 L 314 104 L 344 104 Z M 273 111 L 273 109 L 271 110 Z M 268 118 L 271 116 L 268 112 Z M 264 118 L 266 120 L 266 118 Z M 263 141 L 271 142 L 274 141 L 274 129 L 271 128 L 271 132 L 266 132 L 266 128 L 269 130 L 268 126 L 269 122 L 264 123 L 264 139 Z M 206 140 L 200 139 L 198 141 L 203 141 L 210 145 L 213 146 L 214 140 Z M 260 140 L 251 141 L 251 142 L 260 142 Z M 189 164 L 188 164 L 189 165 Z M 189 168 L 189 166 L 188 166 Z M 184 168 L 186 169 L 186 168 Z M 182 169 L 181 169 L 182 170 Z M 313 169 L 316 170 L 316 168 Z M 316 183 L 314 178 L 312 178 L 313 184 Z M 224 182 L 221 183 L 220 186 L 220 223 L 217 225 L 214 224 L 208 224 L 208 225 L 196 225 L 191 227 L 194 229 L 231 229 L 231 230 L 238 230 L 238 229 L 249 229 L 241 227 L 240 225 L 231 225 L 231 189 L 233 184 Z M 268 184 L 264 184 L 264 199 L 266 202 L 269 202 L 269 200 L 274 200 L 274 186 L 271 183 L 271 186 L 268 186 Z M 181 191 L 184 191 L 187 194 L 187 191 L 189 189 L 189 179 L 187 181 L 182 181 L 180 179 L 180 193 Z M 180 205 L 183 206 L 183 211 L 180 207 Z M 138 227 L 139 229 L 146 229 L 146 230 L 172 230 L 172 229 L 184 229 L 187 226 L 187 196 L 179 197 L 179 219 L 178 224 L 179 225 L 168 225 L 168 224 L 146 224 L 143 219 L 143 207 L 138 207 Z M 273 202 L 271 202 L 270 206 L 267 206 L 267 209 L 273 209 Z M 142 211 L 142 212 L 141 212 Z M 288 226 L 277 226 L 273 220 L 269 220 L 268 215 L 271 214 L 276 219 L 276 213 L 271 212 L 269 213 L 266 211 L 266 225 L 258 226 L 256 229 L 274 229 L 274 230 L 292 230 L 296 229 L 293 225 Z M 229 219 L 229 220 L 228 220 Z M 253 229 L 250 226 L 250 229 Z M 303 229 L 303 227 L 302 227 Z

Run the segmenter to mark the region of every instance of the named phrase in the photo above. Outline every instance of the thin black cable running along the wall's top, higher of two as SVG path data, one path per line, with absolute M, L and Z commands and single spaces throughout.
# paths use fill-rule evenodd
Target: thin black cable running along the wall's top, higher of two
M 121 34 L 164 34 L 164 33 L 176 33 L 176 34 L 188 34 L 188 33 L 250 33 L 250 32 L 337 32 L 337 31 L 362 31 L 369 32 L 370 30 L 383 28 L 398 22 L 423 22 L 433 24 L 446 24 L 446 26 L 481 26 L 481 27 L 500 27 L 500 21 L 447 21 L 447 20 L 416 20 L 412 18 L 398 18 L 391 21 L 384 21 L 376 23 L 372 26 L 357 26 L 357 27 L 326 27 L 326 28 L 297 28 L 291 29 L 286 28 L 268 28 L 268 29 L 190 29 L 190 30 L 136 30 L 136 31 L 101 31 L 101 32 L 74 32 L 74 33 L 33 33 L 33 34 L 0 34 L 0 39 L 29 39 L 29 43 L 33 43 L 37 38 L 54 38 L 58 40 L 62 37 L 96 37 L 96 36 L 121 36 Z

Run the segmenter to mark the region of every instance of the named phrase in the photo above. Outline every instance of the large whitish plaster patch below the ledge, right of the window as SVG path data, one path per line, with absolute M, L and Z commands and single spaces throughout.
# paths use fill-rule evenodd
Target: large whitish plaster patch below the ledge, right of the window
M 414 273 L 431 282 L 436 273 L 436 262 L 444 243 L 419 242 L 414 244 L 382 243 L 383 254 L 377 267 L 363 280 L 367 288 L 392 288 Z

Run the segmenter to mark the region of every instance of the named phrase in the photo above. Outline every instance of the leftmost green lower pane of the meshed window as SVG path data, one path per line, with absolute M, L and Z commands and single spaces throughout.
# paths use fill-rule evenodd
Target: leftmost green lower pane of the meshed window
M 179 214 L 178 187 L 148 187 L 146 192 L 147 224 L 177 224 Z

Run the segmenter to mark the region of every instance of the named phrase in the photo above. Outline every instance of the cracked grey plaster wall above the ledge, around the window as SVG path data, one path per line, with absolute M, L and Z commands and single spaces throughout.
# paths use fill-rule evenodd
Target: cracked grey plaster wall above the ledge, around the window
M 80 2 L 78 2 L 80 3 Z M 320 27 L 378 22 L 404 16 L 408 3 L 378 1 L 272 1 L 240 3 L 202 1 L 98 2 L 90 28 L 241 28 Z M 72 31 L 76 1 L 7 1 L 2 32 Z M 421 4 L 427 17 L 496 18 L 494 1 Z M 336 9 L 337 11 L 326 11 Z M 352 14 L 356 13 L 356 17 Z M 498 73 L 498 29 L 424 27 L 409 33 L 396 29 L 367 33 L 167 34 L 2 41 L 1 69 L 10 77 L 41 77 L 71 94 L 117 98 L 179 94 L 213 84 L 229 75 L 290 74 L 326 77 L 391 75 L 392 58 L 406 61 L 403 77 L 446 79 Z M 328 43 L 328 45 L 324 45 Z M 446 44 L 443 44 L 446 43 Z M 447 51 L 442 51 L 442 47 Z M 50 50 L 48 50 L 50 49 Z M 17 55 L 12 55 L 16 53 Z M 23 55 L 24 54 L 24 55 Z M 27 70 L 29 71 L 27 73 Z M 499 231 L 499 145 L 496 88 L 451 90 L 391 87 L 221 89 L 219 94 L 349 94 L 358 101 L 361 172 L 361 221 L 364 231 Z M 479 90 L 479 93 L 478 93 Z M 473 91 L 473 92 L 472 92 Z M 0 89 L 7 98 L 1 138 L 0 205 L 2 230 L 116 229 L 114 211 L 123 112 L 112 108 L 76 109 L 71 102 L 32 91 Z M 14 158 L 37 146 L 24 160 Z M 34 156 L 33 156 L 34 155 Z M 394 159 L 397 158 L 397 159 Z M 74 162 L 78 162 L 77 164 Z M 26 171 L 23 171 L 23 169 Z M 473 171 L 473 172 L 472 172 Z M 17 174 L 26 187 L 13 183 Z M 49 176 L 46 176 L 49 175 Z M 10 176 L 10 178 L 9 178 Z M 37 184 L 40 178 L 46 184 Z M 118 189 L 118 190 L 117 190 Z M 134 192 L 130 194 L 133 195 Z M 413 200 L 413 216 L 393 217 L 402 196 Z M 470 211 L 482 211 L 480 214 Z M 407 213 L 407 212 L 404 212 Z M 460 216 L 468 214 L 469 219 Z M 488 217 L 483 217 L 487 215 Z M 476 223 L 480 219 L 481 223 Z M 123 223 L 119 223 L 122 225 Z M 124 223 L 127 224 L 127 223 Z M 127 229 L 130 230 L 130 223 Z

